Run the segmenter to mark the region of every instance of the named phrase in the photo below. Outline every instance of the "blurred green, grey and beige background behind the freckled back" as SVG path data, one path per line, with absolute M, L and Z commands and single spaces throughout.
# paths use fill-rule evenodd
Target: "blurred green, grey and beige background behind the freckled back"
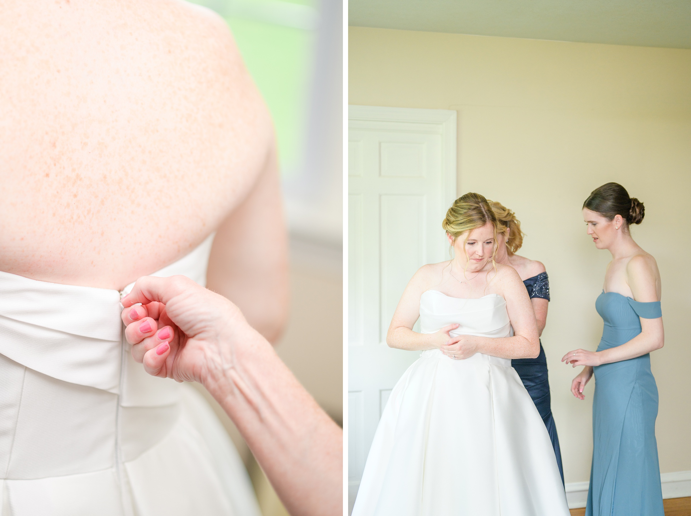
M 290 230 L 291 317 L 276 350 L 342 423 L 341 0 L 192 0 L 225 19 L 271 111 Z M 207 399 L 209 396 L 207 395 Z M 234 425 L 264 516 L 287 515 Z

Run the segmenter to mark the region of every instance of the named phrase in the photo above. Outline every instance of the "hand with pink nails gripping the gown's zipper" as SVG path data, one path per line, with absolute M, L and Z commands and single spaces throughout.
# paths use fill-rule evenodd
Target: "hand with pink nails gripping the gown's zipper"
M 149 374 L 176 381 L 205 383 L 220 373 L 234 341 L 250 330 L 233 303 L 185 276 L 139 278 L 122 305 L 134 359 Z

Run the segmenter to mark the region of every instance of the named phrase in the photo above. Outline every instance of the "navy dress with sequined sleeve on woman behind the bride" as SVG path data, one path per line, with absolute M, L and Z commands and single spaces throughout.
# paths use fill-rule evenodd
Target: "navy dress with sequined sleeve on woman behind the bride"
M 549 277 L 547 272 L 541 272 L 537 276 L 528 278 L 523 282 L 528 289 L 530 298 L 542 298 L 549 301 Z M 552 417 L 551 399 L 549 396 L 549 379 L 547 378 L 547 357 L 545 350 L 542 349 L 540 341 L 540 354 L 537 359 L 513 359 L 511 361 L 513 369 L 520 376 L 524 387 L 533 399 L 533 403 L 538 408 L 542 421 L 545 421 L 549 439 L 552 441 L 554 455 L 557 458 L 557 465 L 564 483 L 564 470 L 561 464 L 561 450 L 559 449 L 559 437 L 557 427 Z

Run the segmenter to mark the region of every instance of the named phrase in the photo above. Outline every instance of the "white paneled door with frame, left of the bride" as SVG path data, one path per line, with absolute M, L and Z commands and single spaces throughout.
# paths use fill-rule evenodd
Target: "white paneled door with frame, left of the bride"
M 456 112 L 350 106 L 348 119 L 352 510 L 381 411 L 419 356 L 386 345 L 391 317 L 415 271 L 448 259 L 442 220 L 456 196 Z

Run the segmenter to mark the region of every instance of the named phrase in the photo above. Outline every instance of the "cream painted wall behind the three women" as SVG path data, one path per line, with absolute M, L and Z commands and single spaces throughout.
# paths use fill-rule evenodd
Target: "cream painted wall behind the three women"
M 513 209 L 519 254 L 545 263 L 547 353 L 567 482 L 587 481 L 591 400 L 571 395 L 571 349 L 594 350 L 607 251 L 580 207 L 608 181 L 645 203 L 632 235 L 663 280 L 665 347 L 652 354 L 661 472 L 691 470 L 691 50 L 350 28 L 349 104 L 455 109 L 458 193 Z M 441 222 L 441 221 L 439 221 Z

